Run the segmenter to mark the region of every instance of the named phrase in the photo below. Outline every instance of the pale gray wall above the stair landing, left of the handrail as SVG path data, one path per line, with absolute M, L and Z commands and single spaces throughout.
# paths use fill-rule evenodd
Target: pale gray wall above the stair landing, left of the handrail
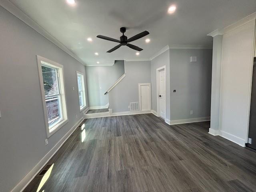
M 89 106 L 108 104 L 106 91 L 124 74 L 124 61 L 116 61 L 113 66 L 86 66 Z

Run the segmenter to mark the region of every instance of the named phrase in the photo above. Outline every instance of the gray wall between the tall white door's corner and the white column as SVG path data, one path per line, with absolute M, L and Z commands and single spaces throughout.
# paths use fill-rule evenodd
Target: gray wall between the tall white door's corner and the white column
M 210 116 L 211 73 L 211 49 L 170 49 L 171 120 Z

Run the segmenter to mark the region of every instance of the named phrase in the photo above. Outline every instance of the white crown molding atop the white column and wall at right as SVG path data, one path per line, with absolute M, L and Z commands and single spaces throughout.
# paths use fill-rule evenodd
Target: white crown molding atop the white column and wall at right
M 243 26 L 245 25 L 246 23 L 248 22 L 251 22 L 252 20 L 255 20 L 256 19 L 256 12 L 246 16 L 245 18 L 242 18 L 240 20 L 238 20 L 237 22 L 234 22 L 233 24 L 229 25 L 229 26 L 226 26 L 225 28 L 223 29 L 216 29 L 214 30 L 213 32 L 207 34 L 208 36 L 216 36 L 216 35 L 224 35 L 225 33 L 228 33 L 240 26 Z

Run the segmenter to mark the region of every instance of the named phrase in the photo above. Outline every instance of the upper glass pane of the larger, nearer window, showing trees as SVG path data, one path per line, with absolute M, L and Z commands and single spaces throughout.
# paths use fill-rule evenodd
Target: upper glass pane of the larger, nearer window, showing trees
M 42 75 L 44 80 L 45 95 L 48 96 L 59 94 L 57 69 L 42 65 Z

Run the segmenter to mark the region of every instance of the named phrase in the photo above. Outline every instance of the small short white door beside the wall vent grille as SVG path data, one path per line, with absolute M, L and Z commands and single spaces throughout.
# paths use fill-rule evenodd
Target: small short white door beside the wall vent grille
M 148 111 L 151 110 L 151 88 L 150 83 L 139 84 L 139 102 L 140 110 Z

